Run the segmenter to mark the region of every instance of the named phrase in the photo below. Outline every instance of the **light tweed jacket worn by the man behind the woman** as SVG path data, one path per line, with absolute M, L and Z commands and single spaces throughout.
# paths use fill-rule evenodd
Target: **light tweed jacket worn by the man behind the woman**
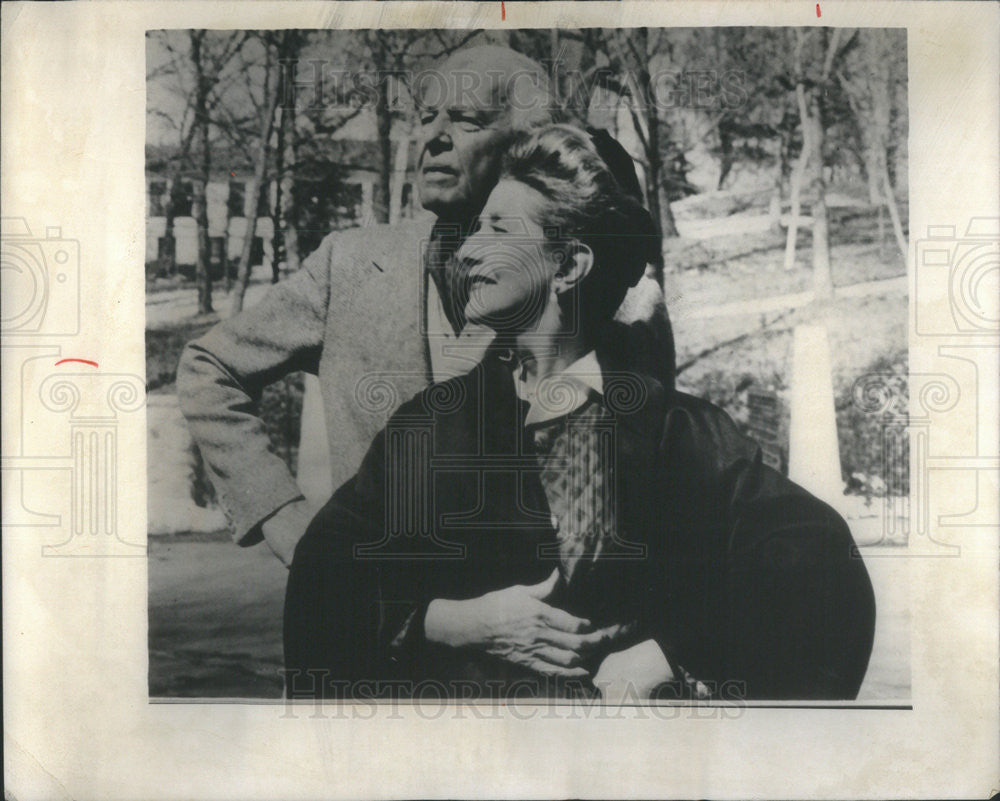
M 184 350 L 181 410 L 237 542 L 259 542 L 260 523 L 301 497 L 268 448 L 257 409 L 266 385 L 297 370 L 318 376 L 337 487 L 388 415 L 430 383 L 428 348 L 441 346 L 424 320 L 431 229 L 425 219 L 330 234 L 259 304 Z M 633 350 L 669 375 L 673 341 L 655 281 L 629 292 L 618 319 Z

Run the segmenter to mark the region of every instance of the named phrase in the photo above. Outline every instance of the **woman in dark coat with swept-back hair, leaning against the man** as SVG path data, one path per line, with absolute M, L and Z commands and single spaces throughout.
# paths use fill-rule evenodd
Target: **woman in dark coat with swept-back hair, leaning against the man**
M 612 322 L 658 247 L 590 136 L 514 143 L 460 252 L 496 341 L 300 543 L 291 697 L 857 694 L 874 603 L 844 521 Z

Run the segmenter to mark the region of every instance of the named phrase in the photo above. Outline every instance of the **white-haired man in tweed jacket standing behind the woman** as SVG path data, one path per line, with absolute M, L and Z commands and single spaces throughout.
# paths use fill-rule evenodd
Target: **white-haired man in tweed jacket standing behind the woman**
M 256 401 L 297 370 L 319 377 L 339 486 L 400 403 L 466 372 L 493 333 L 462 315 L 454 254 L 496 183 L 517 130 L 551 122 L 543 68 L 512 50 L 460 51 L 418 83 L 420 196 L 437 216 L 328 236 L 264 300 L 188 345 L 177 373 L 181 408 L 241 545 L 263 537 L 291 563 L 312 518 L 284 462 L 268 450 Z M 652 279 L 618 315 L 637 352 L 670 379 L 673 344 Z

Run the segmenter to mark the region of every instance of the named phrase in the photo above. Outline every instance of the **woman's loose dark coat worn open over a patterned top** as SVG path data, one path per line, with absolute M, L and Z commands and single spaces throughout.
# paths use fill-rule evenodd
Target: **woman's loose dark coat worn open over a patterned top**
M 843 519 L 765 466 L 722 410 L 615 370 L 613 352 L 598 358 L 620 542 L 555 603 L 596 624 L 637 620 L 640 640 L 656 639 L 717 697 L 854 698 L 875 607 Z M 537 583 L 556 564 L 524 413 L 508 365 L 490 354 L 392 416 L 296 550 L 290 695 L 340 693 L 338 681 L 517 677 L 428 646 L 421 623 L 434 598 Z

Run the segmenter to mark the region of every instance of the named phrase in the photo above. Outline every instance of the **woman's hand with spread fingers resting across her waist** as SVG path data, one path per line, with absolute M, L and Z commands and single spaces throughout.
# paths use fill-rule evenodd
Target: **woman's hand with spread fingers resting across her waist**
M 553 570 L 541 584 L 515 585 L 467 601 L 435 600 L 427 607 L 424 633 L 431 642 L 491 654 L 546 676 L 589 676 L 588 655 L 608 649 L 624 626 L 594 630 L 546 601 L 559 580 Z

